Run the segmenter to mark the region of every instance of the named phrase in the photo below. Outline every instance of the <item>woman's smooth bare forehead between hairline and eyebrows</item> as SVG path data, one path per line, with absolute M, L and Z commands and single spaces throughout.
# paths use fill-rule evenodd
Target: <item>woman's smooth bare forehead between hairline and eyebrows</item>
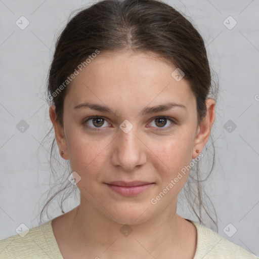
M 175 70 L 154 53 L 100 53 L 73 79 L 65 105 L 74 107 L 91 100 L 130 108 L 167 101 L 195 105 L 188 82 L 171 75 Z

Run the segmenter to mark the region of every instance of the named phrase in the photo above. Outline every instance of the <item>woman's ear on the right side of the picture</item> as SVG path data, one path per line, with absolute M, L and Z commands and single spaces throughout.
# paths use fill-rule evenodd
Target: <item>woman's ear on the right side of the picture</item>
M 201 153 L 202 149 L 206 145 L 212 124 L 215 120 L 215 100 L 212 98 L 206 99 L 207 112 L 206 117 L 200 122 L 199 127 L 197 129 L 197 136 L 194 141 L 192 158 L 196 158 L 198 153 Z M 198 150 L 199 152 L 196 152 Z

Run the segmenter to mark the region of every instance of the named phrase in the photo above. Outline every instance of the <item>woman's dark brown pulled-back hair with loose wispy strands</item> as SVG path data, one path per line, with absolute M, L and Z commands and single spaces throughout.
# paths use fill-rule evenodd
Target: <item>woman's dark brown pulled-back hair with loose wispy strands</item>
M 56 42 L 54 58 L 49 70 L 50 99 L 48 101 L 50 105 L 56 106 L 57 122 L 62 126 L 64 97 L 69 84 L 60 93 L 55 94 L 55 91 L 73 73 L 78 64 L 85 61 L 96 50 L 101 53 L 123 50 L 151 51 L 180 68 L 184 71 L 184 78 L 188 81 L 197 101 L 198 123 L 206 115 L 205 100 L 208 95 L 211 94 L 213 99 L 217 98 L 218 84 L 215 84 L 212 89 L 211 71 L 203 39 L 180 12 L 156 0 L 104 0 L 83 9 L 70 19 Z M 55 138 L 52 142 L 50 162 L 54 143 Z M 212 168 L 213 165 L 211 170 Z M 53 169 L 52 166 L 51 169 Z M 71 169 L 68 168 L 68 171 L 70 174 Z M 62 174 L 64 175 L 64 171 Z M 72 187 L 67 198 L 76 190 L 77 187 L 67 180 L 68 175 L 63 182 L 63 187 L 42 208 L 40 219 L 46 206 L 57 194 Z M 202 181 L 204 180 L 200 180 L 197 164 L 194 176 L 190 174 L 185 185 L 185 195 L 200 223 L 203 223 L 203 209 L 217 226 L 202 201 Z M 63 199 L 61 210 L 64 213 L 62 202 Z

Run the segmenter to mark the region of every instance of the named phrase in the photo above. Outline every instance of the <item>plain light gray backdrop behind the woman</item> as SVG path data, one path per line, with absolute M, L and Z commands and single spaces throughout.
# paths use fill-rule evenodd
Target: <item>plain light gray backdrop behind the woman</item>
M 211 135 L 215 167 L 206 187 L 217 211 L 219 234 L 259 255 L 259 3 L 166 3 L 198 28 L 219 76 L 221 92 Z M 21 223 L 28 228 L 39 225 L 37 215 L 46 200 L 51 172 L 49 146 L 40 145 L 51 128 L 44 101 L 47 72 L 54 39 L 69 14 L 85 5 L 90 2 L 0 0 L 0 239 L 17 234 Z M 29 21 L 24 30 L 16 25 L 21 16 Z M 229 16 L 237 22 L 232 29 L 224 25 Z M 226 25 L 232 26 L 233 20 L 228 20 Z M 17 128 L 24 123 L 21 120 L 29 126 L 23 133 Z M 78 200 L 68 200 L 66 211 L 78 204 Z M 52 218 L 60 214 L 55 207 L 51 212 Z M 237 232 L 229 237 L 235 228 Z

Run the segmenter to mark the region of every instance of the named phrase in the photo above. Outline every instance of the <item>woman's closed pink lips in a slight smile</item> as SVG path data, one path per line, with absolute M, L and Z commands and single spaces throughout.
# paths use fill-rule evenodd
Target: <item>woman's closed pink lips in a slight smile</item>
M 134 182 L 124 182 L 124 181 L 116 181 L 106 183 L 106 185 L 113 190 L 114 192 L 123 195 L 123 196 L 136 196 L 150 187 L 154 185 L 154 183 L 149 182 L 141 182 L 141 181 L 134 181 Z

